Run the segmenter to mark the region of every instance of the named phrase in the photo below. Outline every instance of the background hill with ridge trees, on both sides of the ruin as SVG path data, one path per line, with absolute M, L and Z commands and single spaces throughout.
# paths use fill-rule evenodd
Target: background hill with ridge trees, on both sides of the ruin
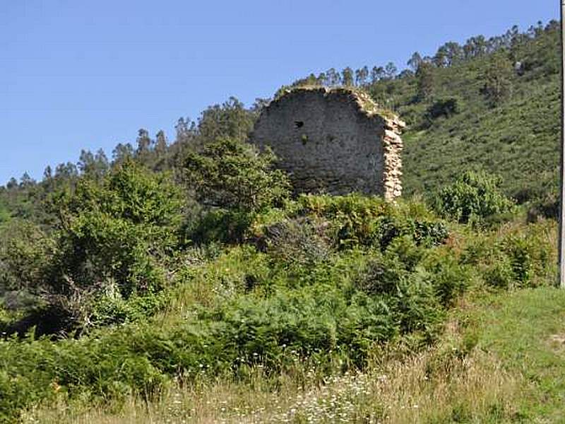
M 357 86 L 400 114 L 405 141 L 405 194 L 427 194 L 464 170 L 478 168 L 502 177 L 506 194 L 519 202 L 552 209 L 559 158 L 559 24 L 538 23 L 521 32 L 446 42 L 433 57 L 418 52 L 398 72 L 392 63 L 343 71 L 329 69 L 293 86 Z M 246 139 L 261 107 L 245 108 L 235 98 L 208 107 L 196 122 L 179 119 L 169 142 L 140 129 L 135 143 L 82 151 L 78 163 L 48 166 L 41 182 L 27 174 L 0 188 L 0 221 L 8 216 L 49 221 L 39 205 L 79 175 L 97 177 L 126 157 L 154 170 L 176 170 L 186 150 L 220 137 Z M 142 119 L 142 117 L 140 117 Z

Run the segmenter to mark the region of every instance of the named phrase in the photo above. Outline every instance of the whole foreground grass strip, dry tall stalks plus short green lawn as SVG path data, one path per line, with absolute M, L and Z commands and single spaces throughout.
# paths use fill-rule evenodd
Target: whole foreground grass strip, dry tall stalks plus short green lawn
M 363 373 L 323 379 L 297 364 L 275 380 L 218 377 L 172 386 L 119 413 L 54 408 L 25 423 L 560 423 L 565 420 L 565 291 L 516 290 L 463 300 L 441 341 L 420 353 L 375 351 Z M 297 374 L 301 374 L 300 378 Z

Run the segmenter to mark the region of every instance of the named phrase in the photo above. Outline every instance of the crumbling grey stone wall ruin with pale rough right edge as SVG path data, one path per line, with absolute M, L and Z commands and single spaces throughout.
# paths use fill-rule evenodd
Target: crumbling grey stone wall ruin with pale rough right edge
M 347 88 L 292 88 L 261 112 L 251 142 L 270 146 L 297 192 L 402 193 L 405 123 L 367 94 Z

